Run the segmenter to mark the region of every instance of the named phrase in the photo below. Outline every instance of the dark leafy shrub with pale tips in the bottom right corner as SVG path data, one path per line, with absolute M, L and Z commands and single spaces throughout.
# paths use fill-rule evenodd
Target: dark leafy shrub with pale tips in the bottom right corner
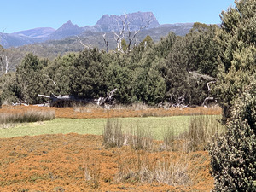
M 223 137 L 210 148 L 214 191 L 256 191 L 256 80 L 235 102 Z

